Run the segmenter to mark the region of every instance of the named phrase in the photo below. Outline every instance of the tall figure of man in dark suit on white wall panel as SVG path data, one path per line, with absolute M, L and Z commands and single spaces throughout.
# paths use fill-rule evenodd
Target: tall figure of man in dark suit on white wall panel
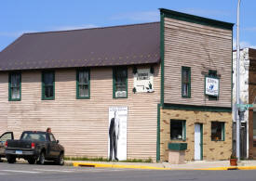
M 109 125 L 109 139 L 110 139 L 110 155 L 109 160 L 112 161 L 113 158 L 113 149 L 114 149 L 114 157 L 115 160 L 118 161 L 117 158 L 117 143 L 119 138 L 119 119 L 116 116 L 115 111 L 114 118 L 111 119 L 110 125 Z

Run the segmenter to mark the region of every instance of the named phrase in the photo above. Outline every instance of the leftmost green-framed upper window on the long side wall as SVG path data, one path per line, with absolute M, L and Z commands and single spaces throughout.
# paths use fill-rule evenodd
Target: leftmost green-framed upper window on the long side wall
M 21 74 L 19 72 L 9 73 L 9 101 L 18 101 L 21 97 Z

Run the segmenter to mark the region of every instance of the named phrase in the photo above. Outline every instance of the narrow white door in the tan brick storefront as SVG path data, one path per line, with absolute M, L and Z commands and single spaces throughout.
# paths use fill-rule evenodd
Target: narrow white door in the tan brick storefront
M 195 123 L 195 161 L 201 161 L 202 160 L 202 128 L 203 124 L 201 123 Z

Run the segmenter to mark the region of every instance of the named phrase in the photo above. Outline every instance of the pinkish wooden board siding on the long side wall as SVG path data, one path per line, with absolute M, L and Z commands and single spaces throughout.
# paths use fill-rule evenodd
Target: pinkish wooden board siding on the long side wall
M 107 157 L 109 107 L 128 106 L 128 159 L 155 160 L 159 66 L 154 93 L 133 94 L 133 73 L 128 68 L 128 98 L 119 99 L 113 98 L 112 68 L 91 68 L 90 99 L 76 99 L 75 73 L 55 71 L 55 100 L 41 100 L 41 71 L 23 71 L 21 101 L 8 101 L 7 73 L 0 73 L 1 133 L 14 131 L 19 138 L 23 130 L 44 131 L 50 126 L 66 155 Z

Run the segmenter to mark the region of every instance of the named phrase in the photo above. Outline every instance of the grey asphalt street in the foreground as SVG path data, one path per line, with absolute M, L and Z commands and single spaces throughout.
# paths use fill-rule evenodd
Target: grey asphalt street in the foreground
M 255 181 L 256 171 L 157 171 L 0 162 L 1 181 Z

